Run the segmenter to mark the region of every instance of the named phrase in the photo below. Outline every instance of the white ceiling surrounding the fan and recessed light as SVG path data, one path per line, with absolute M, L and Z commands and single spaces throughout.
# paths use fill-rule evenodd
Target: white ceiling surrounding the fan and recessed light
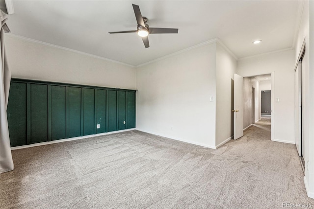
M 149 35 L 145 49 L 135 30 L 132 3 L 151 27 L 178 34 Z M 137 66 L 218 37 L 238 58 L 293 46 L 298 0 L 14 0 L 13 34 Z M 253 45 L 262 39 L 259 45 Z

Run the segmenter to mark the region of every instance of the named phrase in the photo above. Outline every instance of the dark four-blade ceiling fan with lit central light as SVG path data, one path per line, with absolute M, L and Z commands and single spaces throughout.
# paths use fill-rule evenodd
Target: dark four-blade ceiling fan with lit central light
M 149 27 L 147 23 L 147 18 L 143 17 L 138 5 L 132 4 L 135 13 L 135 18 L 137 22 L 137 30 L 129 31 L 119 31 L 119 32 L 109 32 L 112 33 L 137 33 L 142 37 L 145 48 L 149 48 L 148 34 L 156 33 L 178 33 L 178 28 L 162 28 L 162 27 Z

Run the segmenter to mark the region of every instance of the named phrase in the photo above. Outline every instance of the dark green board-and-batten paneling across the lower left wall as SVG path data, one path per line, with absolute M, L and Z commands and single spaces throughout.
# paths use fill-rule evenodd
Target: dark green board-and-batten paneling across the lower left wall
M 12 147 L 131 129 L 135 91 L 12 79 L 7 115 Z

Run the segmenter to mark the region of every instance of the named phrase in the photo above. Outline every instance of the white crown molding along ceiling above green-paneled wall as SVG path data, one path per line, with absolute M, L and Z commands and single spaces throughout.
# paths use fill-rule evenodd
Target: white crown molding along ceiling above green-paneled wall
M 83 55 L 86 55 L 86 56 L 91 56 L 91 57 L 94 57 L 94 58 L 97 58 L 97 59 L 102 59 L 102 60 L 106 60 L 106 61 L 109 61 L 109 62 L 114 62 L 114 63 L 118 63 L 118 64 L 121 64 L 121 65 L 126 65 L 126 66 L 129 66 L 129 67 L 132 67 L 132 68 L 135 67 L 134 65 L 126 64 L 126 63 L 119 62 L 119 61 L 116 61 L 116 60 L 113 60 L 113 59 L 108 59 L 108 58 L 105 58 L 105 57 L 102 57 L 102 56 L 97 56 L 97 55 L 90 54 L 90 53 L 85 53 L 85 52 L 80 52 L 80 51 L 77 51 L 77 50 L 72 50 L 72 49 L 69 49 L 69 48 L 66 48 L 66 47 L 60 47 L 58 45 L 49 44 L 49 43 L 46 43 L 46 42 L 43 42 L 43 41 L 38 41 L 38 40 L 35 40 L 35 39 L 31 39 L 31 38 L 26 38 L 24 36 L 16 35 L 16 34 L 13 34 L 13 33 L 5 33 L 5 34 L 7 36 L 19 38 L 19 39 L 22 39 L 22 40 L 26 40 L 28 42 L 43 44 L 43 45 L 47 45 L 47 46 L 50 46 L 50 47 L 54 47 L 54 48 L 58 48 L 58 49 L 62 49 L 62 50 L 70 51 L 70 52 L 75 52 L 75 53 L 83 54 Z

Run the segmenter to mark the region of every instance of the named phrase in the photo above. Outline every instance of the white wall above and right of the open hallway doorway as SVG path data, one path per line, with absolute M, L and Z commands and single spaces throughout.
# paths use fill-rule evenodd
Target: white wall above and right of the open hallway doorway
M 274 73 L 274 139 L 294 143 L 294 55 L 293 50 L 240 59 L 237 74 L 247 77 Z

